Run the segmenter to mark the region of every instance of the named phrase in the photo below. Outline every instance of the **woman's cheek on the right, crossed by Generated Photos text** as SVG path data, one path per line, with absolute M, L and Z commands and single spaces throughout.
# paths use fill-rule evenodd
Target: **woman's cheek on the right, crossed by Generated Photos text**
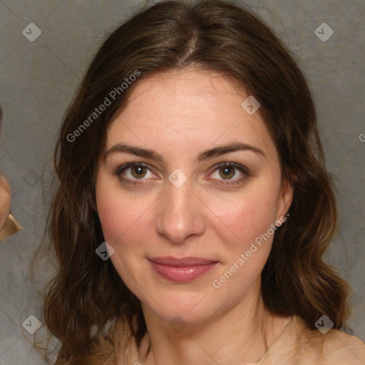
M 216 232 L 225 250 L 220 250 L 223 265 L 212 286 L 224 287 L 220 290 L 230 297 L 233 292 L 246 293 L 267 262 L 275 232 L 271 225 L 276 221 L 276 196 L 274 190 L 252 189 L 220 210 L 225 224 L 216 225 Z

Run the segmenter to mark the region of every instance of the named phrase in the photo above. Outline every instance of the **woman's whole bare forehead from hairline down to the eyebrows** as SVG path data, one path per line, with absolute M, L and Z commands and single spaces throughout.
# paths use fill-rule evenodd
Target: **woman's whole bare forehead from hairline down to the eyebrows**
M 107 145 L 133 140 L 154 149 L 173 143 L 193 150 L 238 141 L 269 153 L 273 141 L 259 111 L 250 115 L 241 106 L 248 96 L 219 73 L 185 69 L 149 76 L 135 84 L 110 124 Z

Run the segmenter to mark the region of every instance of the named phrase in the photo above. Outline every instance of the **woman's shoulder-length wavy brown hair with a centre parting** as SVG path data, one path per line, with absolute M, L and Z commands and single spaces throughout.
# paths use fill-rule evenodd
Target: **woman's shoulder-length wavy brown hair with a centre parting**
M 139 299 L 112 262 L 96 255 L 104 241 L 96 213 L 96 168 L 108 125 L 123 112 L 133 87 L 155 73 L 186 67 L 227 76 L 259 101 L 282 176 L 294 187 L 289 219 L 275 233 L 262 271 L 265 306 L 273 314 L 297 314 L 312 329 L 323 314 L 335 328 L 346 324 L 349 286 L 322 260 L 336 230 L 336 201 L 302 71 L 269 26 L 242 5 L 162 1 L 138 11 L 106 38 L 66 110 L 56 143 L 59 186 L 48 227 L 58 267 L 47 288 L 44 317 L 60 341 L 58 358 L 69 364 L 88 364 L 96 339 L 117 319 L 137 343 L 145 334 Z M 74 133 L 136 71 L 140 76 Z

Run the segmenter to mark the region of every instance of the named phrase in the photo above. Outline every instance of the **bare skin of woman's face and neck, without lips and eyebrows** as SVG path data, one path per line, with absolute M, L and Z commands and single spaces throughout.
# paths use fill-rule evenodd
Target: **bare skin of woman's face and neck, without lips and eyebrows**
M 138 351 L 145 365 L 252 363 L 289 323 L 269 314 L 261 297 L 272 235 L 219 289 L 212 286 L 292 202 L 259 110 L 249 115 L 241 107 L 247 96 L 215 73 L 160 73 L 135 85 L 108 128 L 106 150 L 127 143 L 165 160 L 110 153 L 105 162 L 101 158 L 96 179 L 103 234 L 115 250 L 110 259 L 142 302 L 148 333 Z M 235 142 L 262 154 L 238 150 L 197 161 L 202 151 Z M 245 166 L 251 175 L 231 168 L 227 180 L 224 168 L 216 167 L 225 162 Z M 123 170 L 121 177 L 138 184 L 123 183 L 114 171 L 125 163 L 145 163 L 150 170 L 142 169 L 139 180 L 138 167 Z M 168 180 L 177 168 L 187 178 L 180 187 Z M 219 264 L 193 282 L 170 282 L 148 261 L 168 255 Z M 180 333 L 169 326 L 176 316 L 186 324 Z

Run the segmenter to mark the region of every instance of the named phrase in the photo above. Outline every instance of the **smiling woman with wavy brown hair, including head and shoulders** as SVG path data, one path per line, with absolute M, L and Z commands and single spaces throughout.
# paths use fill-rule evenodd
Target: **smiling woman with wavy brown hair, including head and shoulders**
M 364 364 L 322 261 L 336 203 L 288 51 L 227 1 L 110 34 L 63 120 L 56 364 Z

